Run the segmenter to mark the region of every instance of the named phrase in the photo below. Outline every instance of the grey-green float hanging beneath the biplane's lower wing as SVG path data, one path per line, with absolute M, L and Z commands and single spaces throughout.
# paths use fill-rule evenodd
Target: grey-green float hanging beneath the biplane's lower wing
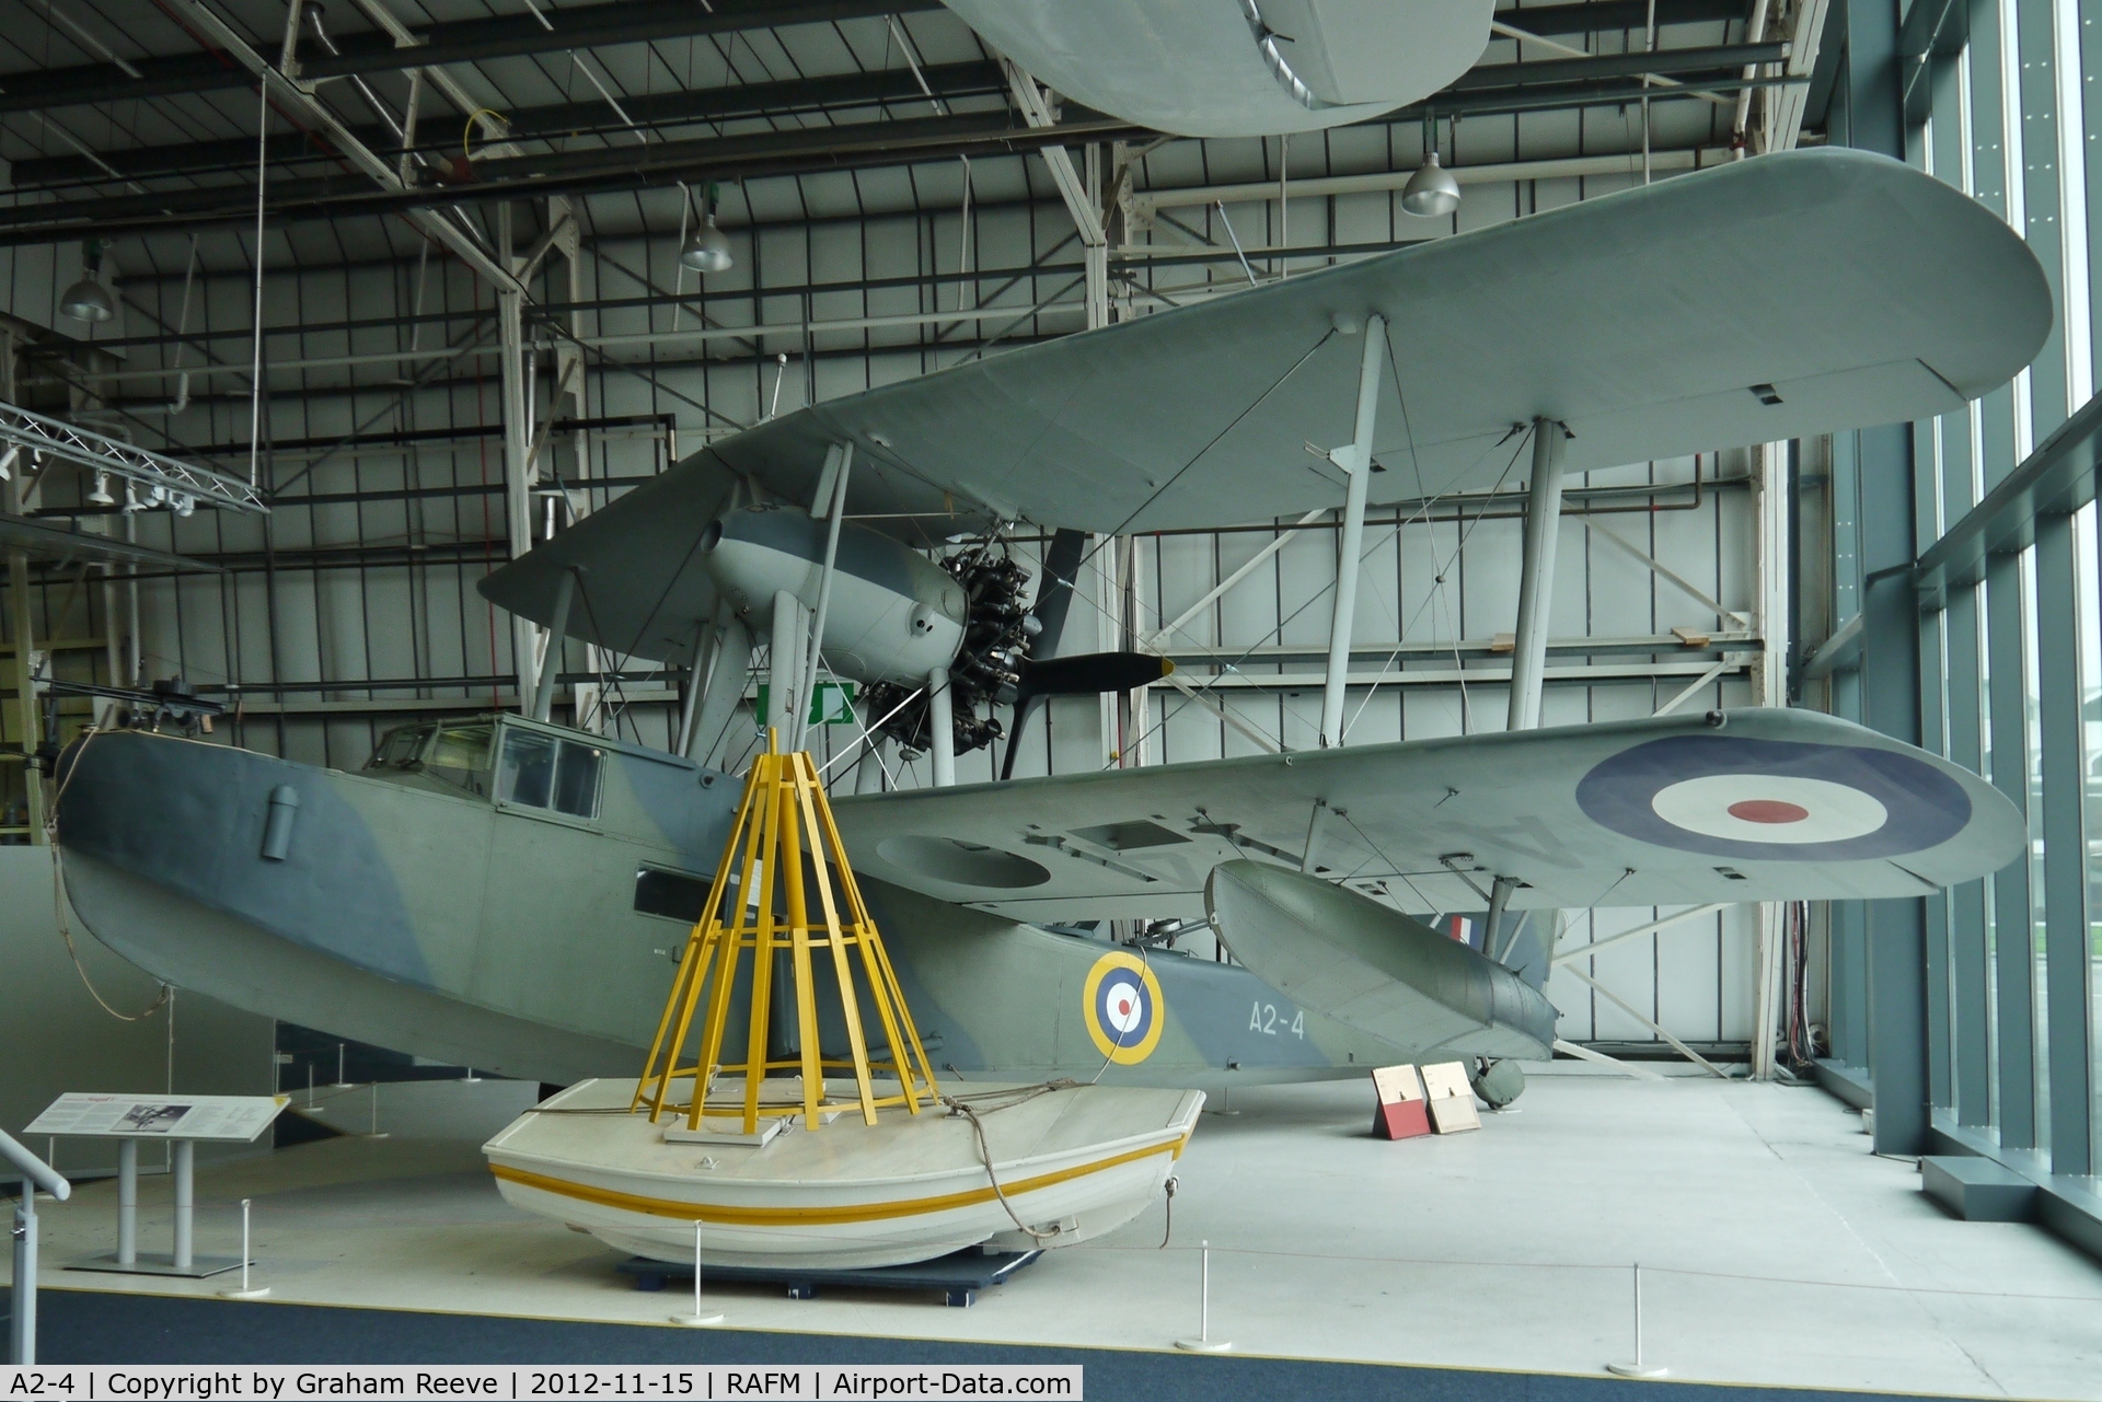
M 1436 1059 L 1549 1057 L 1555 1009 L 1497 961 L 1345 887 L 1257 862 L 1204 883 L 1219 942 L 1293 1003 Z

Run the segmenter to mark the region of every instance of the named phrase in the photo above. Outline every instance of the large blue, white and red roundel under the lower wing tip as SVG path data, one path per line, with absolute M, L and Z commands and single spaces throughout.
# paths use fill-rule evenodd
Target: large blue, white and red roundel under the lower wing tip
M 1576 803 L 1644 843 L 1764 862 L 1900 858 L 1972 816 L 1963 786 L 1911 755 L 1730 736 L 1621 750 L 1576 784 Z

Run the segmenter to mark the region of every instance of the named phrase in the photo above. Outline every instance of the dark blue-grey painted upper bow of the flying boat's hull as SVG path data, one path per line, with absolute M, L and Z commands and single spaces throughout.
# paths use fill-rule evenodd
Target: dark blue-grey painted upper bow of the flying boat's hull
M 404 982 L 429 971 L 408 908 L 347 780 L 225 744 L 92 734 L 59 761 L 59 849 L 82 921 L 118 948 L 101 885 L 145 883 L 265 933 Z M 137 900 L 122 908 L 137 921 Z

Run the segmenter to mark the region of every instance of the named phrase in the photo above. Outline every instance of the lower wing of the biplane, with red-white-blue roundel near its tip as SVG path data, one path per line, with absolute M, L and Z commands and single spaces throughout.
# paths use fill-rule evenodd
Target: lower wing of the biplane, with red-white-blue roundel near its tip
M 1492 877 L 1526 883 L 1516 908 L 1585 908 L 1928 895 L 1999 870 L 2024 841 L 2020 813 L 1976 774 L 1810 710 L 1112 769 L 832 807 L 858 872 L 1032 921 L 1202 914 L 1204 877 L 1232 858 L 1305 862 L 1410 910 L 1480 908 Z

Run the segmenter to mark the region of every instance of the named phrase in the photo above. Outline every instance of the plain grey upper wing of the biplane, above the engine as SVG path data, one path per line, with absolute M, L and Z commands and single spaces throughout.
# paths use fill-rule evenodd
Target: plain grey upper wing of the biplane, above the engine
M 1211 303 L 990 355 L 786 414 L 490 576 L 553 616 L 584 565 L 601 635 L 668 656 L 694 542 L 734 477 L 809 502 L 856 446 L 847 509 L 908 540 L 1028 519 L 1230 525 L 1341 504 L 1307 444 L 1347 444 L 1381 313 L 1373 504 L 1516 486 L 1513 425 L 1568 425 L 1583 471 L 1959 408 L 2052 326 L 2043 271 L 1991 210 L 1881 156 L 1789 151 Z

